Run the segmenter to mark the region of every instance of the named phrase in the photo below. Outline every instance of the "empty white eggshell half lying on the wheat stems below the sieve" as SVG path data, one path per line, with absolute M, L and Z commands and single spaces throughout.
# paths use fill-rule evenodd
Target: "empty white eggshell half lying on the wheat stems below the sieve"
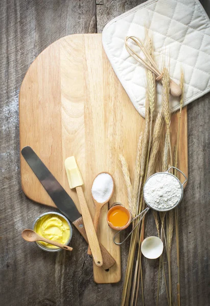
M 155 259 L 160 257 L 164 250 L 164 244 L 156 236 L 145 238 L 141 245 L 141 251 L 146 258 Z

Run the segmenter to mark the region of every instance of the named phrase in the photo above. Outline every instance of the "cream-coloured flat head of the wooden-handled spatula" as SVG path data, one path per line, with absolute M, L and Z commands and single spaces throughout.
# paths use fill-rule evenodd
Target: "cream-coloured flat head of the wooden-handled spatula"
M 83 185 L 82 176 L 77 166 L 74 156 L 68 157 L 65 160 L 65 170 L 70 188 L 75 188 Z

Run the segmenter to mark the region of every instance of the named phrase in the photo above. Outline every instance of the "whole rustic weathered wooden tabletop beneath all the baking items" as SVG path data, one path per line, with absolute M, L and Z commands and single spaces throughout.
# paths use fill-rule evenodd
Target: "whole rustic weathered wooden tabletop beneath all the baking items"
M 49 208 L 21 190 L 18 92 L 35 57 L 69 34 L 101 32 L 141 0 L 1 0 L 0 2 L 0 304 L 2 306 L 120 305 L 123 281 L 96 285 L 86 244 L 74 231 L 74 253 L 46 253 L 22 240 L 22 229 Z M 205 3 L 205 1 L 203 1 Z M 209 3 L 208 3 L 209 5 Z M 209 6 L 208 6 L 209 7 Z M 181 304 L 209 305 L 209 98 L 188 107 L 189 182 L 179 208 Z M 30 213 L 28 213 L 30 212 Z M 155 234 L 147 223 L 146 234 Z M 122 247 L 125 275 L 128 244 Z M 175 254 L 172 254 L 175 256 Z M 175 260 L 174 260 L 175 265 Z M 157 264 L 145 264 L 145 305 L 155 304 Z M 122 279 L 123 279 L 122 277 Z M 175 285 L 175 284 L 174 284 Z M 139 299 L 141 305 L 141 299 Z M 160 305 L 166 305 L 164 287 Z

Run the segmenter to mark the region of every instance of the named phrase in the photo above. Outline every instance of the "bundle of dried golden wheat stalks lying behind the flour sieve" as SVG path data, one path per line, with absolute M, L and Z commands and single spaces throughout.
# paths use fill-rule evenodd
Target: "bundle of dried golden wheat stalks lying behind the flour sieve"
M 151 39 L 148 40 L 148 49 L 149 49 L 150 54 L 152 54 L 152 40 Z M 158 167 L 158 170 L 162 170 L 162 171 L 167 170 L 168 165 L 169 165 L 169 152 L 170 152 L 170 164 L 172 165 L 173 163 L 172 151 L 171 151 L 171 141 L 170 141 L 170 120 L 171 120 L 170 109 L 169 109 L 170 77 L 169 77 L 169 72 L 166 68 L 163 69 L 162 85 L 163 85 L 162 86 L 163 87 L 162 113 L 158 114 L 157 119 L 154 124 L 154 129 L 152 130 L 153 114 L 155 111 L 155 95 L 156 95 L 155 94 L 155 80 L 153 78 L 153 74 L 147 72 L 145 133 L 143 136 L 141 136 L 141 141 L 139 139 L 139 142 L 138 142 L 138 143 L 141 142 L 141 148 L 137 149 L 133 185 L 131 185 L 128 165 L 125 165 L 125 168 L 127 169 L 127 174 L 126 175 L 124 174 L 124 177 L 125 176 L 127 178 L 129 177 L 129 180 L 127 180 L 127 183 L 126 183 L 126 187 L 127 187 L 127 190 L 130 190 L 131 199 L 129 199 L 129 203 L 130 203 L 130 206 L 133 206 L 133 208 L 130 207 L 133 215 L 137 215 L 145 207 L 145 202 L 143 200 L 143 192 L 142 192 L 143 185 L 147 177 L 153 174 L 155 169 L 157 169 L 156 167 L 157 159 L 161 165 Z M 162 132 L 164 131 L 164 121 L 166 123 L 165 138 L 162 137 Z M 164 142 L 164 145 L 162 145 L 163 147 L 162 155 L 159 155 L 161 140 L 163 140 L 162 142 Z M 138 144 L 138 147 L 139 147 L 139 144 Z M 177 150 L 175 149 L 175 152 L 176 151 Z M 160 158 L 162 159 L 160 160 Z M 124 170 L 124 173 L 126 173 L 125 170 Z M 128 188 L 128 186 L 130 185 L 131 187 Z M 136 198 L 137 198 L 137 201 L 136 201 Z M 134 209 L 136 209 L 136 211 L 134 211 Z M 170 250 L 171 250 L 172 237 L 173 237 L 174 215 L 173 215 L 173 212 L 170 212 L 167 216 L 167 221 L 166 221 L 167 238 L 166 238 L 165 230 L 164 230 L 164 222 L 166 219 L 165 216 L 166 216 L 166 213 L 160 213 L 159 214 L 160 222 L 159 222 L 158 214 L 154 212 L 154 219 L 155 219 L 155 224 L 157 227 L 158 236 L 162 238 L 162 236 L 164 235 L 165 237 L 165 244 L 166 244 L 167 258 L 168 258 L 168 268 L 169 268 L 169 291 L 167 289 L 166 274 L 164 270 L 164 262 L 163 262 L 162 257 L 160 259 L 159 264 L 162 263 L 162 271 L 164 274 L 164 280 L 166 284 L 167 299 L 169 301 L 169 304 L 172 305 L 173 300 L 172 300 Z M 176 215 L 175 215 L 175 220 L 177 224 Z M 136 224 L 137 221 L 138 221 L 138 218 L 134 221 L 134 224 Z M 160 224 L 161 224 L 161 227 L 160 227 Z M 142 262 L 141 262 L 141 251 L 140 251 L 142 239 L 144 239 L 144 219 L 142 220 L 140 224 L 138 224 L 138 226 L 135 228 L 134 232 L 131 235 L 128 264 L 126 268 L 125 282 L 124 282 L 124 287 L 123 287 L 123 299 L 122 299 L 123 306 L 127 306 L 129 304 L 130 305 L 137 304 L 140 277 L 141 277 L 142 297 L 143 297 L 143 305 L 144 305 L 143 275 L 142 275 Z M 137 243 L 138 243 L 138 247 L 136 247 Z M 135 262 L 135 266 L 134 266 L 135 253 L 137 253 L 137 257 L 136 257 L 137 261 Z M 177 262 L 178 262 L 178 258 L 177 258 Z M 134 271 L 134 275 L 133 275 L 133 271 Z M 160 274 L 160 266 L 159 266 L 159 271 L 158 271 L 158 293 L 159 293 L 159 274 Z M 179 286 L 177 286 L 177 290 L 179 290 L 178 287 Z M 130 291 L 131 291 L 131 296 L 130 296 Z M 131 297 L 131 300 L 130 300 L 130 297 Z M 158 303 L 158 296 L 157 296 L 157 303 Z

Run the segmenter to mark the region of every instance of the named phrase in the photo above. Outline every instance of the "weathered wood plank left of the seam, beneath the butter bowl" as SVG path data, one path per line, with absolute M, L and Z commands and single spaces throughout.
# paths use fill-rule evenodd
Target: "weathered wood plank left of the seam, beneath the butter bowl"
M 73 235 L 75 254 L 43 252 L 20 236 L 37 215 L 50 209 L 33 203 L 21 191 L 18 91 L 30 64 L 46 46 L 65 35 L 96 32 L 96 4 L 93 0 L 3 0 L 0 27 L 0 304 L 79 305 L 82 292 L 88 295 L 93 283 L 92 262 L 79 233 Z M 97 295 L 99 289 L 95 287 L 93 293 Z

